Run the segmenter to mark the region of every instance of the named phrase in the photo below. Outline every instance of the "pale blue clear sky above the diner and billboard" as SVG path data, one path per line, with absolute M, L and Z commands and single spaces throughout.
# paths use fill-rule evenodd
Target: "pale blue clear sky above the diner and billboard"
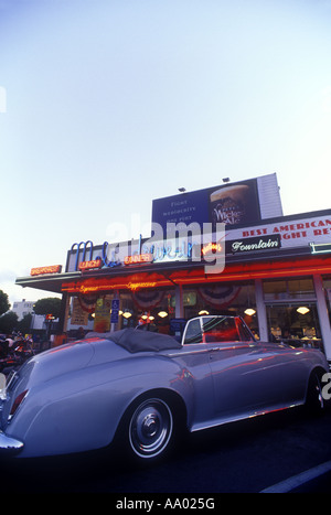
M 277 172 L 285 214 L 329 208 L 330 28 L 328 0 L 0 0 L 0 289 L 44 297 L 15 277 L 179 186 Z

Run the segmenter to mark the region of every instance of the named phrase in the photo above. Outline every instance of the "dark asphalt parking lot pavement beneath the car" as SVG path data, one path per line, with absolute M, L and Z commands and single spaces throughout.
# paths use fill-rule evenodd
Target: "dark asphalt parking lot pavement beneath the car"
M 329 462 L 330 429 L 330 411 L 308 418 L 292 409 L 196 432 L 172 458 L 143 469 L 100 452 L 15 460 L 7 464 L 1 489 L 111 493 L 115 501 L 130 493 L 259 493 Z M 319 475 L 293 491 L 329 492 L 329 479 L 330 474 Z

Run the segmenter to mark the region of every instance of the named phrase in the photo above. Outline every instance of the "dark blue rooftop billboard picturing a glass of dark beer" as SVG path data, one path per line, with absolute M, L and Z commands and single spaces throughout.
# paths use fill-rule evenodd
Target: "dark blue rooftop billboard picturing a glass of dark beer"
M 223 184 L 152 202 L 152 223 L 167 230 L 168 223 L 216 223 L 236 226 L 261 219 L 257 180 Z

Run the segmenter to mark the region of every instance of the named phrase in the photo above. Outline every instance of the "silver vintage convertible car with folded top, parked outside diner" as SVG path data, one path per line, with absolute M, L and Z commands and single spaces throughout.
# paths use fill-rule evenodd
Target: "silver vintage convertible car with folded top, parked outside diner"
M 322 352 L 257 342 L 238 316 L 192 319 L 181 343 L 134 329 L 87 336 L 8 378 L 0 450 L 23 458 L 120 446 L 146 462 L 185 430 L 323 408 Z

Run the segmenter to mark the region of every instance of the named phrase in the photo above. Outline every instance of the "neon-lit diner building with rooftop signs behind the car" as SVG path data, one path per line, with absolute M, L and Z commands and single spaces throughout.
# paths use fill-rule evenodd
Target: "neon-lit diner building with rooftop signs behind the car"
M 71 328 L 175 334 L 200 314 L 237 314 L 260 341 L 331 362 L 331 210 L 285 216 L 276 174 L 156 200 L 150 237 L 73 242 L 64 268 L 17 283 L 62 294 L 56 343 Z

